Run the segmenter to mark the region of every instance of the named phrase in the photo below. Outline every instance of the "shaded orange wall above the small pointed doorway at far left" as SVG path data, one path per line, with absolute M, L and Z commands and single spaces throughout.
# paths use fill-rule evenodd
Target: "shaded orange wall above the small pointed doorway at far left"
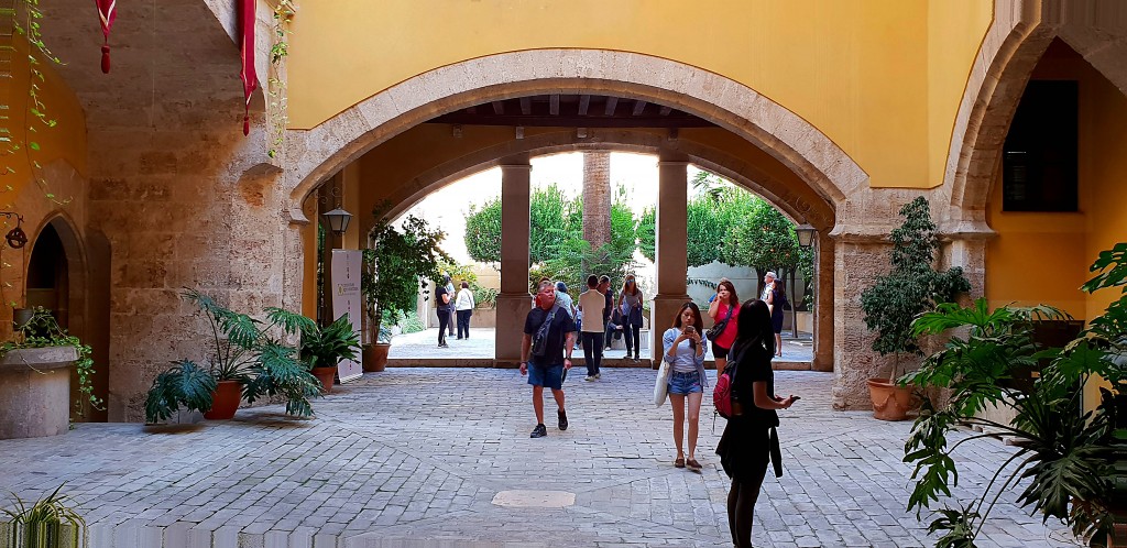
M 33 184 L 32 161 L 46 166 L 54 160 L 64 159 L 79 174 L 86 175 L 86 113 L 74 92 L 66 87 L 62 77 L 50 64 L 39 64 L 44 74 L 39 86 L 39 100 L 46 107 L 47 118 L 57 122 L 54 127 L 46 127 L 27 113 L 30 89 L 30 71 L 27 61 L 27 42 L 18 36 L 14 39 L 17 51 L 12 54 L 12 78 L 0 80 L 0 92 L 9 108 L 3 113 L 8 120 L 0 121 L 19 143 L 20 150 L 12 154 L 0 157 L 0 170 L 11 173 L 0 176 L 0 207 L 11 210 L 16 196 L 24 192 L 44 193 Z M 30 132 L 27 127 L 34 127 Z M 27 141 L 39 143 L 36 152 L 27 147 Z M 59 196 L 66 198 L 68 196 Z

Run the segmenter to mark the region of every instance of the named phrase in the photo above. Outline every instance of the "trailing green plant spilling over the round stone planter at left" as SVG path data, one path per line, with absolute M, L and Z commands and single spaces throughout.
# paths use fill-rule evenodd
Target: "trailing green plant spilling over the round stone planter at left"
M 86 407 L 104 410 L 105 400 L 94 394 L 94 359 L 92 350 L 81 339 L 59 326 L 51 311 L 36 307 L 32 318 L 18 326 L 12 338 L 0 343 L 0 356 L 17 348 L 43 348 L 46 346 L 73 346 L 78 351 L 74 362 L 74 374 L 78 379 L 78 398 L 71 407 L 71 419 L 86 416 Z

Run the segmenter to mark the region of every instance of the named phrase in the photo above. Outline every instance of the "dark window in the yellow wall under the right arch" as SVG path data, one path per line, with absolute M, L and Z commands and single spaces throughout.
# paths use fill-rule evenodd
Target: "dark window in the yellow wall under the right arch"
M 1026 86 L 1002 149 L 1002 211 L 1077 211 L 1077 85 Z

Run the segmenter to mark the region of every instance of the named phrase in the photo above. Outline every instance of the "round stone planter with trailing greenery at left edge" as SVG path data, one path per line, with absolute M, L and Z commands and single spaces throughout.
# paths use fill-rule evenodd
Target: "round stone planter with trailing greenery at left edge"
M 15 350 L 0 357 L 0 440 L 59 435 L 70 428 L 73 346 Z

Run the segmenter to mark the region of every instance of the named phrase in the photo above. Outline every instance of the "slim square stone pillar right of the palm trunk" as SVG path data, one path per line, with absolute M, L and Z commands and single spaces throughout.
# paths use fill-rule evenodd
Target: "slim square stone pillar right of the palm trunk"
M 657 291 L 649 317 L 649 348 L 654 363 L 662 355 L 660 334 L 672 325 L 689 298 L 685 281 L 689 272 L 689 162 L 664 159 L 657 162 L 658 192 L 657 219 L 655 221 L 655 255 Z

